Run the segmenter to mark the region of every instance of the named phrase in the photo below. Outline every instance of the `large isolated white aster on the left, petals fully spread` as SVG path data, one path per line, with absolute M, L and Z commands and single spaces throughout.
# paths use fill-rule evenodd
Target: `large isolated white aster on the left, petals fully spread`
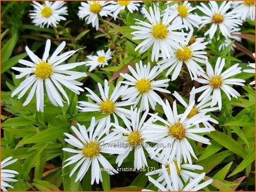
M 20 83 L 19 87 L 17 87 L 13 91 L 11 97 L 20 92 L 18 96 L 18 99 L 20 99 L 24 96 L 28 89 L 32 87 L 26 101 L 23 103 L 23 106 L 30 103 L 32 97 L 36 92 L 36 108 L 38 111 L 43 112 L 44 84 L 49 100 L 55 106 L 63 106 L 63 102 L 65 102 L 61 97 L 60 93 L 65 97 L 69 104 L 68 95 L 67 93 L 65 93 L 60 83 L 78 95 L 80 94 L 79 91 L 84 91 L 82 88 L 78 87 L 81 86 L 82 83 L 77 82 L 75 79 L 86 76 L 86 73 L 70 71 L 70 69 L 73 69 L 80 65 L 84 65 L 85 62 L 60 65 L 60 63 L 64 62 L 66 59 L 68 59 L 77 52 L 77 50 L 72 50 L 58 56 L 58 54 L 64 49 L 65 44 L 65 41 L 63 41 L 57 47 L 55 52 L 53 52 L 52 56 L 48 58 L 51 41 L 47 40 L 46 49 L 44 51 L 42 59 L 40 59 L 33 52 L 31 52 L 31 50 L 26 46 L 27 54 L 31 58 L 32 62 L 20 59 L 19 63 L 27 67 L 12 67 L 12 69 L 20 72 L 19 75 L 15 76 L 17 79 L 23 78 L 24 76 L 26 76 L 26 79 L 22 83 Z

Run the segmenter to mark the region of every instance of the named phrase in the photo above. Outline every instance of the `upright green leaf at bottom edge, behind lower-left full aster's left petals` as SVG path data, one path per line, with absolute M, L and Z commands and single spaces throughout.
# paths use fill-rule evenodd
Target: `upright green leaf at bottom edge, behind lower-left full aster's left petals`
M 70 144 L 64 144 L 63 147 L 72 148 Z M 62 166 L 64 166 L 67 162 L 64 162 L 66 159 L 71 157 L 73 154 L 63 151 L 63 163 Z M 71 177 L 69 177 L 69 173 L 71 170 L 75 167 L 75 164 L 68 165 L 67 167 L 62 169 L 63 173 L 63 186 L 65 191 L 81 191 L 81 185 L 80 182 L 75 182 L 76 180 L 76 173 L 74 173 Z

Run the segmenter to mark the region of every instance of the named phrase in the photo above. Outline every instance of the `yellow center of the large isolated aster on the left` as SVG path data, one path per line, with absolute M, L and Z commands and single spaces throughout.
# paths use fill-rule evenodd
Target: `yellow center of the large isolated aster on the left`
M 46 79 L 49 78 L 49 76 L 52 75 L 53 69 L 52 66 L 47 63 L 47 62 L 40 62 L 38 65 L 35 67 L 35 76 L 41 79 Z

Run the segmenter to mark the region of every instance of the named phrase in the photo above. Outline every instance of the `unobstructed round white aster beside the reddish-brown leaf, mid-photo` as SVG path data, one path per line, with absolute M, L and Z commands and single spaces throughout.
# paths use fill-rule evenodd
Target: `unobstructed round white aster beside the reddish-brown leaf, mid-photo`
M 133 76 L 120 74 L 128 80 L 122 83 L 130 86 L 123 93 L 122 100 L 128 99 L 127 102 L 135 102 L 134 107 L 141 101 L 141 110 L 147 110 L 149 108 L 148 103 L 150 103 L 151 108 L 155 110 L 156 103 L 160 103 L 162 100 L 155 91 L 171 93 L 165 89 L 168 87 L 167 82 L 170 79 L 154 80 L 162 71 L 158 69 L 158 66 L 154 66 L 150 70 L 150 63 L 147 65 L 142 65 L 142 61 L 139 64 L 136 63 L 136 71 L 131 66 L 128 68 Z

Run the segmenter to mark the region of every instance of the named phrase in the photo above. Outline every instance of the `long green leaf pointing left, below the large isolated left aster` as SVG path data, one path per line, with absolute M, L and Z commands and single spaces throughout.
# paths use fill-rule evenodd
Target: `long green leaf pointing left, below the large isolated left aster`
M 46 130 L 43 130 L 41 132 L 39 132 L 38 134 L 31 136 L 31 138 L 28 138 L 26 140 L 22 140 L 20 141 L 16 148 L 23 146 L 24 144 L 28 144 L 28 143 L 44 143 L 44 142 L 48 142 L 50 140 L 55 140 L 58 139 L 62 136 L 64 136 L 64 132 L 67 132 L 68 129 L 67 127 L 51 127 L 48 128 Z

